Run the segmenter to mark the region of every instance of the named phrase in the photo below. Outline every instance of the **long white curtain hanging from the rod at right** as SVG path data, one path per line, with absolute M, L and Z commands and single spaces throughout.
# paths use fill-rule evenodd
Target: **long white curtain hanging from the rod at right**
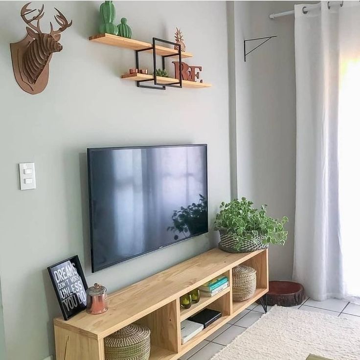
M 320 5 L 295 5 L 293 277 L 315 300 L 359 302 L 360 2 Z

